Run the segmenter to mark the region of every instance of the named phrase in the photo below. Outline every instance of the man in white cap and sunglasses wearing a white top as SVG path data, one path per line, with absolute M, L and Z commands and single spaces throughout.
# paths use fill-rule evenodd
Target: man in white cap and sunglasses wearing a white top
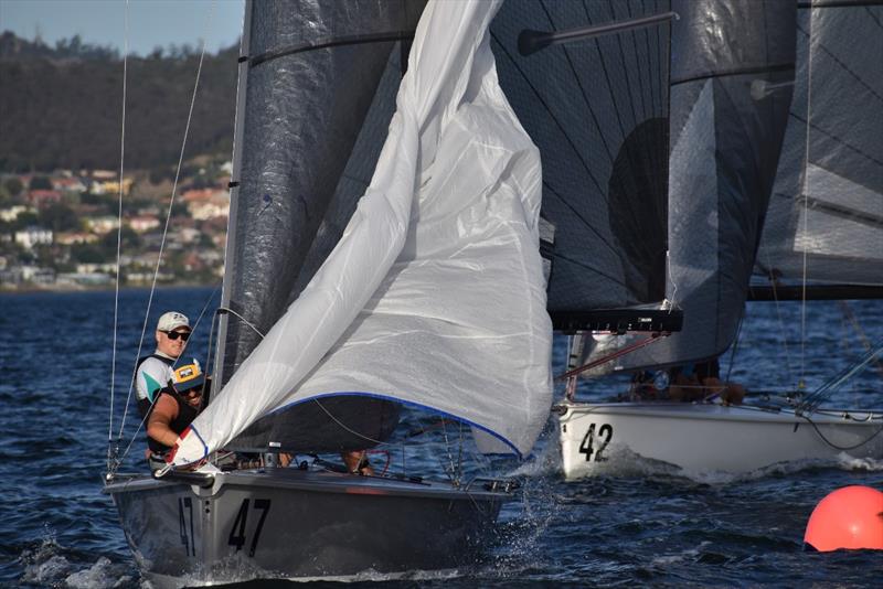
M 138 361 L 135 375 L 135 392 L 138 410 L 147 418 L 157 393 L 172 378 L 172 366 L 184 351 L 190 338 L 190 320 L 183 313 L 169 311 L 157 322 L 157 349 Z

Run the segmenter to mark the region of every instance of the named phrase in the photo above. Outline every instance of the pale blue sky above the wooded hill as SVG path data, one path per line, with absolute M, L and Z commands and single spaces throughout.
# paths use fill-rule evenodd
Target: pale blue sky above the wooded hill
M 242 33 L 244 0 L 0 0 L 0 31 L 54 46 L 78 34 L 84 43 L 123 53 L 128 11 L 129 53 L 147 55 L 170 44 L 214 53 Z

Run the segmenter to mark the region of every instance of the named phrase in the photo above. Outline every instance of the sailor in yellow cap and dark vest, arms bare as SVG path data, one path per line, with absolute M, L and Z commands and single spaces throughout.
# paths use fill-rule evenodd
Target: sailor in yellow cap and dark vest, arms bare
M 156 393 L 147 419 L 147 462 L 151 470 L 166 465 L 166 456 L 202 410 L 205 375 L 194 358 L 172 371 L 169 386 Z

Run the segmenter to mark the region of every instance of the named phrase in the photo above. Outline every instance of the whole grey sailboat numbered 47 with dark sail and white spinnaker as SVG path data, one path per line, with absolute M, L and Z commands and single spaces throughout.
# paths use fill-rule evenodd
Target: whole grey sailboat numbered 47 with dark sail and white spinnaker
M 530 452 L 552 400 L 541 168 L 489 33 L 520 8 L 246 3 L 216 392 L 164 471 L 104 486 L 152 582 L 451 568 L 487 542 L 506 481 L 213 462 L 371 448 L 401 406 Z

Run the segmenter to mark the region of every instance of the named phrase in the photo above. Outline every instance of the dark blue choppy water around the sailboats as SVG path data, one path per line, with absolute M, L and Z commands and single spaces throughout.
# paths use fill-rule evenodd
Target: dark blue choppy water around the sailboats
M 158 291 L 148 338 L 162 310 L 182 310 L 194 320 L 211 293 Z M 146 291 L 121 293 L 116 427 L 146 303 Z M 114 506 L 99 493 L 110 415 L 114 293 L 3 294 L 0 306 L 0 585 L 146 586 Z M 871 341 L 883 339 L 880 302 L 854 302 L 851 309 Z M 732 377 L 754 390 L 787 387 L 800 377 L 802 364 L 813 389 L 861 355 L 841 311 L 833 302 L 809 308 L 801 361 L 799 307 L 754 306 Z M 206 318 L 189 349 L 201 358 L 208 326 Z M 151 349 L 147 342 L 145 352 Z M 563 350 L 563 341 L 556 342 L 558 362 Z M 724 371 L 727 365 L 725 357 Z M 618 383 L 621 378 L 584 385 L 584 395 L 604 398 Z M 880 373 L 866 371 L 838 390 L 832 404 L 883 406 Z M 129 417 L 127 425 L 124 448 L 137 420 Z M 140 468 L 141 445 L 139 438 L 126 470 Z M 437 445 L 427 448 L 411 450 L 416 464 L 408 460 L 437 472 Z M 415 572 L 404 581 L 366 580 L 401 587 L 880 585 L 880 551 L 805 553 L 802 536 L 812 507 L 828 492 L 848 484 L 883 489 L 883 461 L 843 456 L 740 479 L 700 480 L 648 465 L 639 474 L 576 483 L 562 481 L 558 464 L 556 442 L 546 435 L 532 460 L 514 470 L 523 496 L 503 508 L 500 538 L 474 567 Z

